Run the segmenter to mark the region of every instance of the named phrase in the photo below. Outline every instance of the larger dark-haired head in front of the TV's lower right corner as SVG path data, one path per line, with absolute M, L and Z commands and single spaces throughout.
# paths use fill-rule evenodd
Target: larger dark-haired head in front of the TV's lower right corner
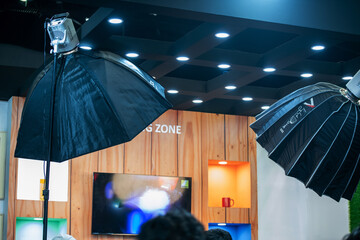
M 185 210 L 172 210 L 141 226 L 139 240 L 205 240 L 203 225 Z

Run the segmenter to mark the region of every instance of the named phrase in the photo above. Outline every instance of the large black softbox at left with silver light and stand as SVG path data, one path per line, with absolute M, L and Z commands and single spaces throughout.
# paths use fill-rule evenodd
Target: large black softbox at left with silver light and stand
M 27 95 L 15 150 L 15 157 L 47 161 L 43 239 L 50 161 L 127 142 L 171 108 L 164 89 L 131 62 L 109 52 L 77 51 L 67 16 L 48 23 L 54 61 L 36 76 Z

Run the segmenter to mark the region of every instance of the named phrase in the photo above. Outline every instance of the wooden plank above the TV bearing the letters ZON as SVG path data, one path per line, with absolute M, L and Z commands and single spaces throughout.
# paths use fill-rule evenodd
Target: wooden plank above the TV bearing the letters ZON
M 152 175 L 177 176 L 177 111 L 169 110 L 152 124 Z M 175 129 L 175 133 L 170 132 Z

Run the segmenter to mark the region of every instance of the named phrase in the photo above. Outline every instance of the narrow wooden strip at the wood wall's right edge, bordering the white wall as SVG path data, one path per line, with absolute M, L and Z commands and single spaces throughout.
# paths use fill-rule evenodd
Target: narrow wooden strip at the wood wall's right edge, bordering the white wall
M 255 122 L 254 117 L 249 117 L 249 125 Z M 258 196 L 257 196 L 257 155 L 256 155 L 256 134 L 248 127 L 248 147 L 249 147 L 249 161 L 251 173 L 251 209 L 250 209 L 250 223 L 251 223 L 251 239 L 258 239 Z

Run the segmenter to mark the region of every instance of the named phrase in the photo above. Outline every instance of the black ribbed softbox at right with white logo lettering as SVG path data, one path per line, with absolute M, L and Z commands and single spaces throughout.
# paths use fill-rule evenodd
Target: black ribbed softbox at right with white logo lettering
M 301 88 L 256 116 L 257 142 L 320 196 L 351 199 L 360 179 L 360 74 L 346 85 Z

